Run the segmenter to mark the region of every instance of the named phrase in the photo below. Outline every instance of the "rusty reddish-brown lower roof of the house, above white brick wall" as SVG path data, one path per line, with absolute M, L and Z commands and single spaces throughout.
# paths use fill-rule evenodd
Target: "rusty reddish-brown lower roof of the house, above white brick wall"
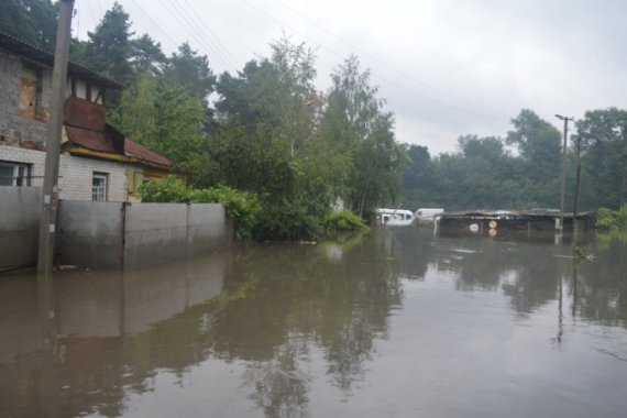
M 158 165 L 165 168 L 173 167 L 169 158 L 124 138 L 109 124 L 107 124 L 105 132 L 66 124 L 65 132 L 70 145 L 105 153 L 101 155 L 105 160 L 107 160 L 107 154 L 109 154 L 111 157 L 127 156 L 150 165 Z

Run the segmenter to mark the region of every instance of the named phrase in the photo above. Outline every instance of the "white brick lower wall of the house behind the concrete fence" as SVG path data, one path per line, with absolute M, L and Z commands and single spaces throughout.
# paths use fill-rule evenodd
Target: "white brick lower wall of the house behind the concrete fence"
M 32 165 L 31 186 L 43 186 L 45 158 L 46 153 L 43 151 L 0 145 L 0 161 Z M 97 172 L 108 175 L 107 200 L 125 201 L 127 175 L 124 169 L 128 167 L 131 166 L 62 154 L 58 179 L 59 197 L 67 200 L 91 200 L 91 179 L 94 173 Z

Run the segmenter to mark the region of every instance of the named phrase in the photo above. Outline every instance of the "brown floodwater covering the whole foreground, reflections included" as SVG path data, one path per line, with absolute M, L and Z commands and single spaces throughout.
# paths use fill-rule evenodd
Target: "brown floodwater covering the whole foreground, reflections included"
M 251 245 L 0 279 L 0 417 L 622 417 L 627 246 Z

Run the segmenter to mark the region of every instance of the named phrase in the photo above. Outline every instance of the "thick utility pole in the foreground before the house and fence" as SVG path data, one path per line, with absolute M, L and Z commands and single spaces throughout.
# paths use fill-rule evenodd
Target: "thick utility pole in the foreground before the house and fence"
M 47 127 L 46 165 L 44 172 L 43 208 L 40 220 L 37 272 L 48 274 L 53 267 L 54 241 L 57 232 L 58 163 L 61 131 L 67 85 L 67 62 L 74 0 L 59 1 L 56 46 L 52 80 L 51 118 Z

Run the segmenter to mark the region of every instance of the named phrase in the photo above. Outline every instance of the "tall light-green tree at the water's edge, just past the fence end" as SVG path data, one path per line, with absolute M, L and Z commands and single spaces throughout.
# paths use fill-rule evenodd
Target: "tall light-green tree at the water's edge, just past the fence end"
M 220 76 L 216 103 L 224 128 L 208 147 L 213 178 L 228 178 L 260 195 L 257 239 L 310 239 L 322 231 L 333 201 L 318 134 L 321 97 L 314 88 L 315 57 L 283 37 L 272 55 Z

